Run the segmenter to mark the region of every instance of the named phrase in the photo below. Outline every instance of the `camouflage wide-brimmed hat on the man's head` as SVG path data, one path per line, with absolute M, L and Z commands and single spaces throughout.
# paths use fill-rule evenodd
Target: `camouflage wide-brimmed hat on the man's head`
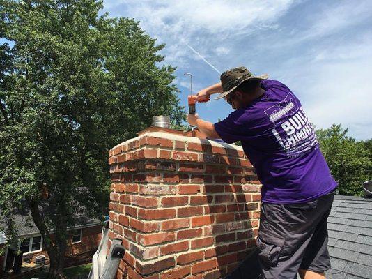
M 242 82 L 245 82 L 246 80 L 265 80 L 267 78 L 268 75 L 255 76 L 245 67 L 237 67 L 226 70 L 221 74 L 220 77 L 224 91 L 220 93 L 215 100 L 224 98 L 224 96 L 234 91 L 240 84 L 242 84 Z

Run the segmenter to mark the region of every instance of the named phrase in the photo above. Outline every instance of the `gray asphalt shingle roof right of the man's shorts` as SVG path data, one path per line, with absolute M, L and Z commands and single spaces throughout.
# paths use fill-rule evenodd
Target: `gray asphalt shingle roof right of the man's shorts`
M 335 195 L 327 219 L 330 279 L 372 278 L 372 198 Z

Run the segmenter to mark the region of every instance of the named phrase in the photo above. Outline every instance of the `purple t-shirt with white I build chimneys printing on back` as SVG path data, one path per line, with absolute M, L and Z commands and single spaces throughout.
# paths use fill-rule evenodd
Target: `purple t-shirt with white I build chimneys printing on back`
M 300 100 L 276 80 L 261 87 L 265 93 L 215 123 L 216 132 L 229 144 L 242 142 L 263 185 L 263 202 L 308 202 L 330 193 L 337 183 Z

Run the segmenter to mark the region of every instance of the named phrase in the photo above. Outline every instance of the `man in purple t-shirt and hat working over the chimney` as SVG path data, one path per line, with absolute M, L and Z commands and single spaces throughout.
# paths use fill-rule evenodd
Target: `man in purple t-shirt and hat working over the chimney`
M 288 87 L 245 67 L 227 70 L 221 82 L 199 91 L 213 93 L 235 109 L 212 124 L 187 116 L 209 138 L 240 141 L 254 165 L 261 189 L 261 220 L 256 240 L 258 262 L 267 279 L 325 278 L 330 269 L 327 217 L 334 188 L 313 126 Z M 248 274 L 247 274 L 248 276 Z

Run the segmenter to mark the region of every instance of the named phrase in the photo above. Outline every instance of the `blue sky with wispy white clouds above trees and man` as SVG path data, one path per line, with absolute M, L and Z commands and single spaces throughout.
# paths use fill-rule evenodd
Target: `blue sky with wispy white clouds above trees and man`
M 316 128 L 341 123 L 357 140 L 372 137 L 370 0 L 104 0 L 104 11 L 138 20 L 166 44 L 160 54 L 177 67 L 181 105 L 190 88 L 184 73 L 197 93 L 245 66 L 286 84 Z M 232 111 L 223 99 L 196 105 L 212 123 Z

